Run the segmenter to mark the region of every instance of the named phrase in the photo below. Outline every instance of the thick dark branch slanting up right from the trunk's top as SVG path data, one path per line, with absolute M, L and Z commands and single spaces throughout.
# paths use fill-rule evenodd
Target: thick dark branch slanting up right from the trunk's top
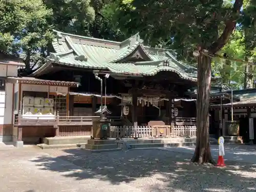
M 241 7 L 243 5 L 243 0 L 236 0 L 233 4 L 232 15 L 240 14 Z M 222 49 L 227 43 L 230 35 L 232 34 L 234 28 L 236 28 L 237 19 L 234 19 L 233 16 L 226 22 L 226 26 L 221 36 L 215 41 L 209 48 L 210 53 L 216 53 Z

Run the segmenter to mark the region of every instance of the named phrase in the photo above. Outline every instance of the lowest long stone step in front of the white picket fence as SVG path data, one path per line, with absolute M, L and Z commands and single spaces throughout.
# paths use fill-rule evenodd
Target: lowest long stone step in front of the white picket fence
M 170 147 L 170 146 L 194 146 L 195 142 L 182 142 L 182 143 L 137 143 L 130 144 L 131 149 L 133 148 L 152 148 L 152 147 Z

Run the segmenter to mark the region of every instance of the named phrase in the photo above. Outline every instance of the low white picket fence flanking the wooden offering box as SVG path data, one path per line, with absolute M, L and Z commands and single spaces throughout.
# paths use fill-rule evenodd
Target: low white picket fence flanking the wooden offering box
M 146 138 L 153 137 L 153 126 L 111 126 L 110 137 L 112 138 Z M 196 137 L 196 126 L 173 127 L 170 137 Z

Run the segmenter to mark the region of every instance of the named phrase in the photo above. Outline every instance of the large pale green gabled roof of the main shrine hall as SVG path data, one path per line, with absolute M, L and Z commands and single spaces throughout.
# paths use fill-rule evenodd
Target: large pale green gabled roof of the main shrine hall
M 144 46 L 139 34 L 118 42 L 54 32 L 57 34 L 52 42 L 55 53 L 51 53 L 49 61 L 30 76 L 47 73 L 47 68 L 52 67 L 51 63 L 58 63 L 63 66 L 142 76 L 171 71 L 180 78 L 197 81 L 196 68 L 178 61 L 172 50 Z

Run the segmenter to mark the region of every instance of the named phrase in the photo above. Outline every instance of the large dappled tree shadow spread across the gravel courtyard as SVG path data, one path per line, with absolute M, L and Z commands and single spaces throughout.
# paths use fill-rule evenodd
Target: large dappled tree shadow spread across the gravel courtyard
M 161 150 L 90 153 L 69 149 L 33 162 L 65 177 L 129 183 L 144 191 L 256 191 L 256 164 L 226 161 L 227 167 L 218 168 L 190 163 L 190 158 L 190 154 Z

